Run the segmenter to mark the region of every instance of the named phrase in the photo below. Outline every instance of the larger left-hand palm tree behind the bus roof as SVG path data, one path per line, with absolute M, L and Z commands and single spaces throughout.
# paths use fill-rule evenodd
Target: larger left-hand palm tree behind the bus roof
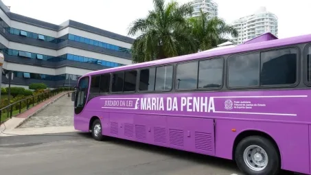
M 190 3 L 153 0 L 154 10 L 135 20 L 128 35 L 137 36 L 132 45 L 133 62 L 170 58 L 198 51 L 198 43 L 187 25 L 185 16 L 192 14 Z

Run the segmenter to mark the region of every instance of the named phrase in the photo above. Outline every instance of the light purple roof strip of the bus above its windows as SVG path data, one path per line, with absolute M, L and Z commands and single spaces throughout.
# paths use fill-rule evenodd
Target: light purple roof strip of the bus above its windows
M 184 56 L 176 56 L 176 57 L 165 58 L 161 60 L 153 60 L 149 62 L 142 62 L 142 63 L 133 64 L 133 65 L 115 67 L 111 69 L 102 69 L 99 71 L 91 71 L 83 75 L 82 77 L 88 76 L 88 75 L 97 75 L 97 74 L 109 73 L 109 72 L 114 72 L 114 71 L 124 71 L 128 69 L 138 69 L 141 67 L 163 65 L 163 64 L 169 64 L 169 63 L 180 62 L 180 61 L 185 61 L 185 60 L 194 60 L 198 58 L 222 56 L 222 55 L 235 54 L 235 53 L 240 53 L 240 52 L 245 52 L 245 51 L 254 51 L 258 49 L 267 49 L 270 47 L 281 47 L 285 45 L 294 45 L 294 44 L 308 43 L 308 42 L 311 42 L 311 34 L 278 39 L 273 34 L 266 33 L 266 34 L 257 36 L 256 38 L 253 38 L 251 40 L 248 40 L 245 43 L 242 43 L 241 45 L 235 45 L 235 47 L 229 47 L 229 48 L 227 47 L 224 49 L 211 49 L 207 51 L 198 52 L 196 54 L 188 54 Z

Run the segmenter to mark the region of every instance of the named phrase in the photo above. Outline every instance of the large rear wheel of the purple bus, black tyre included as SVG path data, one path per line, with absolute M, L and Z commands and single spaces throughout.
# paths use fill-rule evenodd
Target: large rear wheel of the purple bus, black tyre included
M 280 169 L 279 153 L 265 137 L 246 137 L 235 148 L 235 161 L 249 175 L 275 175 Z

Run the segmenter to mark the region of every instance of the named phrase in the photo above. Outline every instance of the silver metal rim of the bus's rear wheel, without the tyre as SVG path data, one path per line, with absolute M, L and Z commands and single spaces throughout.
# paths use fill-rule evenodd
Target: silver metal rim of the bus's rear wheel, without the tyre
M 256 172 L 264 170 L 268 165 L 268 154 L 258 145 L 250 145 L 244 150 L 243 159 L 245 164 Z

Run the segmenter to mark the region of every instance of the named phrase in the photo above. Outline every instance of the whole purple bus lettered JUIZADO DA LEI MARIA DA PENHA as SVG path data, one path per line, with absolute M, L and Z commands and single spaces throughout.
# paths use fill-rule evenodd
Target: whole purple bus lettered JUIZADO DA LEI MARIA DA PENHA
M 311 35 L 83 75 L 74 127 L 234 160 L 245 174 L 311 174 Z M 311 110 L 310 110 L 311 111 Z

